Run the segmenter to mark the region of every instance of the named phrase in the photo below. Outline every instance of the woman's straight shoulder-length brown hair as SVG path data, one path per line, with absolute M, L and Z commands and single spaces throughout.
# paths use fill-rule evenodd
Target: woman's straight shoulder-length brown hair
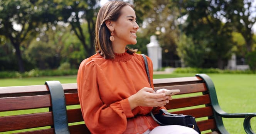
M 121 9 L 126 5 L 134 9 L 133 5 L 119 0 L 107 2 L 99 9 L 95 26 L 95 49 L 96 52 L 98 52 L 105 59 L 115 58 L 113 47 L 111 41 L 109 40 L 111 33 L 105 22 L 106 20 L 116 21 L 121 14 Z M 129 54 L 133 54 L 137 51 L 137 49 L 130 49 L 127 46 L 126 49 L 126 52 Z

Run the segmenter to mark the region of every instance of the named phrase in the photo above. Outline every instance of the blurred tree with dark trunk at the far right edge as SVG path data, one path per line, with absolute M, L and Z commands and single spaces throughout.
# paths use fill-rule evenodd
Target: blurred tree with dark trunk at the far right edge
M 234 28 L 242 34 L 246 42 L 248 52 L 253 47 L 253 31 L 252 27 L 255 23 L 256 5 L 254 0 L 216 0 L 214 4 L 219 7 L 221 15 L 231 22 Z

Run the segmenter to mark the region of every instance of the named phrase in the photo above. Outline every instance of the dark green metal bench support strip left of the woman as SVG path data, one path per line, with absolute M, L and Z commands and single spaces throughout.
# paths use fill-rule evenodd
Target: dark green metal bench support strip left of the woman
M 67 122 L 67 108 L 64 91 L 59 81 L 46 81 L 51 99 L 55 134 L 70 134 Z

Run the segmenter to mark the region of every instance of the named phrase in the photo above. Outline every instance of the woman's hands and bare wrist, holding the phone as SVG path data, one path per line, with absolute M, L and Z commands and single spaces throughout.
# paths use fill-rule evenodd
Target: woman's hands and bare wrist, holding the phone
M 144 87 L 134 95 L 131 95 L 128 100 L 131 106 L 131 109 L 136 108 L 137 106 L 152 106 L 152 107 L 161 107 L 169 103 L 169 100 L 172 100 L 171 96 L 167 96 L 164 93 L 168 91 L 167 89 L 155 91 L 152 88 Z

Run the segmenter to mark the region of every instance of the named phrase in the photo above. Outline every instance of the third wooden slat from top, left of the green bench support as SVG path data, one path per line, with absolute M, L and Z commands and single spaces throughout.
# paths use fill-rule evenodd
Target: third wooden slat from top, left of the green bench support
M 0 132 L 53 125 L 52 112 L 0 117 Z

